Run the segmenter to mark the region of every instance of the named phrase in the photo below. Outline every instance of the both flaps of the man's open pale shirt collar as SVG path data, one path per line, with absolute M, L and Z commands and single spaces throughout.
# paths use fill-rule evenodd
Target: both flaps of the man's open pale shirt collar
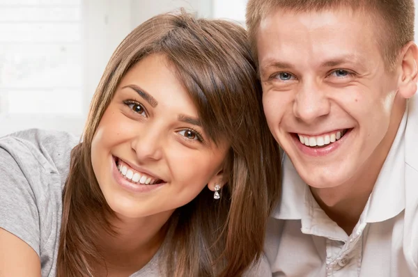
M 362 214 L 362 219 L 366 222 L 380 222 L 391 219 L 405 208 L 404 134 L 407 118 L 408 109 L 403 115 L 394 143 L 392 143 L 385 164 L 382 166 L 378 180 Z M 286 154 L 282 159 L 282 168 L 281 199 L 279 205 L 272 212 L 272 217 L 274 219 L 295 220 L 311 216 L 307 212 L 314 207 L 312 200 L 315 204 L 316 201 Z

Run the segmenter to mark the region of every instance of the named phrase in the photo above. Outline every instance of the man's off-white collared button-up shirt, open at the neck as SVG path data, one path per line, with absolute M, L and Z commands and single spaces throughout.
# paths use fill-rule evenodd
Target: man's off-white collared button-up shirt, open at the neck
M 413 114 L 405 112 L 350 236 L 323 212 L 284 157 L 281 203 L 270 217 L 265 240 L 272 276 L 418 277 L 418 157 L 410 158 L 415 149 L 406 154 L 405 143 L 407 122 L 418 122 L 418 100 L 410 104 Z M 418 128 L 412 129 L 418 148 Z

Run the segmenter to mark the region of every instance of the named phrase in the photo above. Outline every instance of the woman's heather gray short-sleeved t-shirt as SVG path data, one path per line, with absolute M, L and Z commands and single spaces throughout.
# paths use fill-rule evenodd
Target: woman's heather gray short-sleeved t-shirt
M 29 244 L 42 277 L 56 276 L 62 191 L 79 139 L 30 129 L 0 138 L 0 228 Z M 157 277 L 157 255 L 132 277 Z

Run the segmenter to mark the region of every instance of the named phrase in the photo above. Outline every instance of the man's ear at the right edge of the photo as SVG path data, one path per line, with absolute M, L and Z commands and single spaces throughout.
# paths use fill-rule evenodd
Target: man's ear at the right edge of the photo
M 401 52 L 401 65 L 398 80 L 398 94 L 408 99 L 417 92 L 418 81 L 418 47 L 415 42 L 409 42 Z

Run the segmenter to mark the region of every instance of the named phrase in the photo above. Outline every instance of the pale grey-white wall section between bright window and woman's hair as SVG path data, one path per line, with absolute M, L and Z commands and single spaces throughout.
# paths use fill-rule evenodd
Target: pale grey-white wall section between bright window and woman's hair
M 210 0 L 88 0 L 86 18 L 86 98 L 90 99 L 114 49 L 136 26 L 154 15 L 180 7 L 201 17 L 212 16 Z

